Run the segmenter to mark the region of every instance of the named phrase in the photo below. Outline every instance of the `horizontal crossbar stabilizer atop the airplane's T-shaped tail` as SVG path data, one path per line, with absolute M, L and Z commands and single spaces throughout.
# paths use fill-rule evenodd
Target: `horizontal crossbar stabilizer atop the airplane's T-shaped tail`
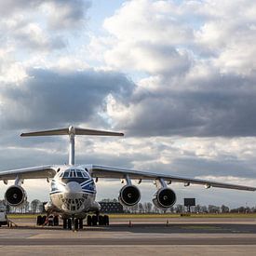
M 57 128 L 34 132 L 21 133 L 21 137 L 29 136 L 54 136 L 54 135 L 98 135 L 98 136 L 124 136 L 124 133 L 88 128 Z

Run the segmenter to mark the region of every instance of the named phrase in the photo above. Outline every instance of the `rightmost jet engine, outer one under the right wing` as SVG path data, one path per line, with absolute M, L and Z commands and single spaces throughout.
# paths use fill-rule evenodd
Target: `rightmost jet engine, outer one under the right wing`
M 172 207 L 176 202 L 176 195 L 175 193 L 167 187 L 160 188 L 156 191 L 153 203 L 155 207 L 160 209 L 168 209 Z

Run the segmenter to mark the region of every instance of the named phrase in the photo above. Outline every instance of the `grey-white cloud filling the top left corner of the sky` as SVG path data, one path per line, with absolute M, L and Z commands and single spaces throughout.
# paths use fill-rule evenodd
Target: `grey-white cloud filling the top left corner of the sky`
M 1 1 L 0 46 L 12 47 L 16 61 L 60 53 L 69 46 L 71 34 L 85 29 L 89 7 L 86 0 Z

